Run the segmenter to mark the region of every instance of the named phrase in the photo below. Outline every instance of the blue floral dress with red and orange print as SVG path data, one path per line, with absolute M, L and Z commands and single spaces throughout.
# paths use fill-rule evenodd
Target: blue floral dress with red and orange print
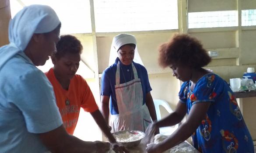
M 189 114 L 193 104 L 207 102 L 210 108 L 193 133 L 194 147 L 203 153 L 254 153 L 252 137 L 228 83 L 214 73 L 197 81 L 193 92 L 191 81 L 182 84 L 179 99 Z

